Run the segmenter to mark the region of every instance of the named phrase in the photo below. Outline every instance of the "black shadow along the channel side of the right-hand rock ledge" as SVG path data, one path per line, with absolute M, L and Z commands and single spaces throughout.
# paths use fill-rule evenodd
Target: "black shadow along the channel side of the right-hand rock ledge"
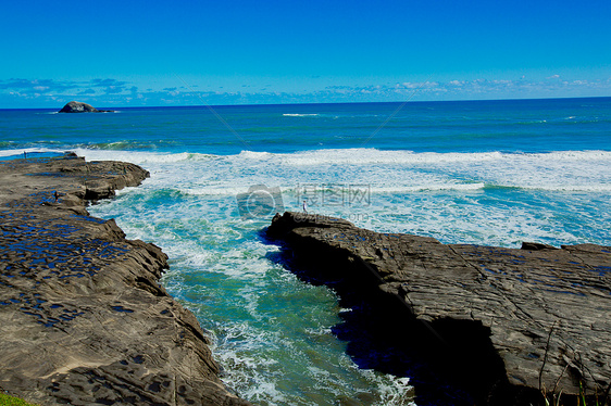
M 323 253 L 315 257 L 300 254 L 270 239 L 264 231 L 260 237 L 266 243 L 280 245 L 279 252 L 267 255 L 270 261 L 283 265 L 307 283 L 332 289 L 340 306 L 350 309 L 339 314 L 342 321 L 332 331 L 347 343 L 347 353 L 359 368 L 409 378 L 419 406 L 476 403 L 472 386 L 482 382 L 474 382 L 473 371 L 466 370 L 482 360 L 465 359 L 456 368 L 456 359 L 450 359 L 453 348 L 448 347 L 442 337 L 444 326 L 439 326 L 441 333 L 432 332 L 431 326 L 413 319 L 407 308 L 398 312 L 366 275 L 364 281 L 348 278 L 358 271 L 350 264 L 338 264 L 337 258 Z M 472 342 L 470 345 L 483 344 Z M 469 350 L 463 354 L 467 353 Z M 462 379 L 466 376 L 469 379 Z

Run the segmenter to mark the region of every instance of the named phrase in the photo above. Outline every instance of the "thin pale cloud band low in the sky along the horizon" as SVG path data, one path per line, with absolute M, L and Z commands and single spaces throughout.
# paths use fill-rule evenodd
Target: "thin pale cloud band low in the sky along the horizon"
M 553 75 L 551 79 L 558 79 Z M 434 101 L 469 99 L 528 99 L 561 97 L 611 96 L 611 78 L 599 80 L 519 79 L 452 79 L 448 81 L 392 81 L 367 86 L 338 83 L 320 89 L 287 92 L 277 86 L 266 90 L 245 92 L 225 91 L 221 87 L 210 91 L 189 91 L 180 87 L 139 90 L 126 81 L 93 79 L 88 81 L 57 81 L 51 79 L 0 80 L 0 107 L 51 106 L 84 98 L 88 103 L 104 106 L 122 105 L 201 105 L 258 103 L 376 102 Z M 33 100 L 36 100 L 34 105 Z

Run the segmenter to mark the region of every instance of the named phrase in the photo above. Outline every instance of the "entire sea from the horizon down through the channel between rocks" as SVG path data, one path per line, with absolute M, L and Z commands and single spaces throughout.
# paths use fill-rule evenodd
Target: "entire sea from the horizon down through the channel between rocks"
M 409 378 L 347 355 L 336 294 L 271 259 L 276 211 L 444 243 L 611 245 L 611 98 L 57 110 L 0 111 L 0 160 L 70 150 L 148 169 L 90 213 L 163 248 L 164 286 L 260 405 L 414 403 Z

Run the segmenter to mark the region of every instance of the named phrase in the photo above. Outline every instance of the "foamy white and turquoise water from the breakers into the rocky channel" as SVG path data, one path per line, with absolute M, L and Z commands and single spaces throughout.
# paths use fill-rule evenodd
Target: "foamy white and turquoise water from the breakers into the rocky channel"
M 77 152 L 151 172 L 140 188 L 90 211 L 116 217 L 128 238 L 163 248 L 171 263 L 164 286 L 210 331 L 224 382 L 259 404 L 332 405 L 365 393 L 376 405 L 413 405 L 413 399 L 406 395 L 407 378 L 359 369 L 346 355 L 332 328 L 339 313 L 350 309 L 341 308 L 333 292 L 274 263 L 278 248 L 259 237 L 271 218 L 240 217 L 236 195 L 253 185 L 277 187 L 286 210 L 302 210 L 306 189 L 313 192 L 314 213 L 442 242 L 559 245 L 611 237 L 611 153 L 604 151 Z M 350 186 L 363 187 L 369 199 L 324 200 L 323 193 L 337 196 Z

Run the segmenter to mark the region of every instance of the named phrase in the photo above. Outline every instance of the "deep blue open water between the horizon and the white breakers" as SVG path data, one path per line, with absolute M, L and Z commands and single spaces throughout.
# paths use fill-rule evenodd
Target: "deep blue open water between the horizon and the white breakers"
M 80 147 L 222 155 L 242 150 L 290 153 L 348 148 L 608 151 L 610 100 L 129 107 L 89 115 L 4 110 L 0 111 L 0 148 Z

